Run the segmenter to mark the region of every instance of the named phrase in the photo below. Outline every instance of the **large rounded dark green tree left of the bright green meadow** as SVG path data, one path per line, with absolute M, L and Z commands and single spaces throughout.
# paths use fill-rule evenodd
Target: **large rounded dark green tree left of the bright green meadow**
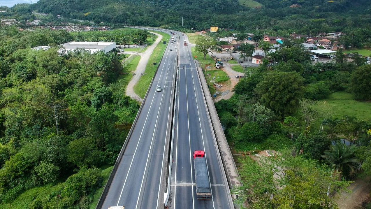
M 294 72 L 270 73 L 257 84 L 257 93 L 264 106 L 283 117 L 295 111 L 303 95 L 303 78 Z

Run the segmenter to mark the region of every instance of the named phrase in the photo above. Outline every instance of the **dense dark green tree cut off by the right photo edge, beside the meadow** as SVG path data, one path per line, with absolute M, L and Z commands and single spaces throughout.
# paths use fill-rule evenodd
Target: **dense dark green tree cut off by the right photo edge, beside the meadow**
M 371 99 L 371 65 L 358 67 L 352 72 L 350 87 L 356 99 Z

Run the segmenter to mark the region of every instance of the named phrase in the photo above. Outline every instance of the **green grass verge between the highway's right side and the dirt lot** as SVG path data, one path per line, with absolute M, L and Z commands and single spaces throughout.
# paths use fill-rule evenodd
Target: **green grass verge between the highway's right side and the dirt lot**
M 228 75 L 223 70 L 217 70 L 215 68 L 215 62 L 211 57 L 209 59 L 208 54 L 206 55 L 206 59 L 204 60 L 204 55 L 201 53 L 197 53 L 194 47 L 191 48 L 191 52 L 192 57 L 200 63 L 200 67 L 204 72 L 210 94 L 213 95 L 216 91 L 214 84 L 211 82 L 213 80 L 213 77 L 215 76 L 216 83 L 224 85 L 227 81 L 229 81 Z

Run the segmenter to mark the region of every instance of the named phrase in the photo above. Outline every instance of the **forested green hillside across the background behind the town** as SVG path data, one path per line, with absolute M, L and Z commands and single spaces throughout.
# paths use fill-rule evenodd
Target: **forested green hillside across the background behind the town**
M 290 7 L 295 4 L 296 7 Z M 255 7 L 259 7 L 256 9 Z M 370 28 L 368 0 L 40 0 L 31 9 L 94 22 L 128 25 L 211 25 L 237 30 L 292 30 L 297 33 Z

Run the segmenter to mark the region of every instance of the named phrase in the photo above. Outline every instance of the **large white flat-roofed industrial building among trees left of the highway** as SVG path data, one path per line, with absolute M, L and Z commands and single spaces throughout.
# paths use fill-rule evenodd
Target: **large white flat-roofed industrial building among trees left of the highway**
M 68 54 L 69 51 L 73 51 L 75 49 L 84 49 L 89 51 L 90 53 L 95 53 L 98 51 L 102 51 L 107 53 L 112 51 L 116 48 L 115 42 L 68 42 L 66 44 L 60 45 L 63 48 L 59 49 L 60 54 Z

